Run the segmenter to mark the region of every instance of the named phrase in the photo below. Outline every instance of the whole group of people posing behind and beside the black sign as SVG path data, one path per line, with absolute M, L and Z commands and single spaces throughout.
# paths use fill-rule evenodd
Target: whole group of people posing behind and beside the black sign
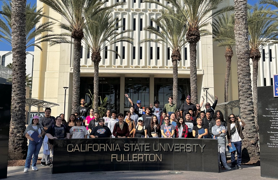
M 50 162 L 50 149 L 53 148 L 53 139 L 63 138 L 108 138 L 108 137 L 162 137 L 162 138 L 213 138 L 218 139 L 219 162 L 225 169 L 242 169 L 241 163 L 241 141 L 244 138 L 242 128 L 245 123 L 234 114 L 230 114 L 226 123 L 221 111 L 214 112 L 216 100 L 211 107 L 206 103 L 206 109 L 200 111 L 203 101 L 200 104 L 192 104 L 191 97 L 187 96 L 186 102 L 178 110 L 173 104 L 173 97 L 168 98 L 169 103 L 165 104 L 163 110 L 159 107 L 159 101 L 154 105 L 142 108 L 141 101 L 134 104 L 131 102 L 130 111 L 125 116 L 115 110 L 107 110 L 105 116 L 100 118 L 99 113 L 94 109 L 85 106 L 85 99 L 81 98 L 81 106 L 75 114 L 71 114 L 68 122 L 64 120 L 64 114 L 56 118 L 50 116 L 51 109 L 45 109 L 45 116 L 39 119 L 34 116 L 32 124 L 28 125 L 24 136 L 29 139 L 28 155 L 24 172 L 28 172 L 31 159 L 32 169 L 38 170 L 36 161 L 38 153 L 43 145 L 42 166 L 52 166 Z M 174 112 L 174 113 L 173 113 Z M 170 113 L 170 114 L 169 114 Z M 36 131 L 41 138 L 35 142 L 31 135 Z M 231 153 L 232 166 L 227 166 L 226 161 L 226 139 L 229 146 L 233 143 L 237 151 L 237 162 L 235 151 Z M 53 151 L 52 151 L 53 153 Z M 221 157 L 221 161 L 220 161 Z M 220 166 L 219 166 L 220 167 Z

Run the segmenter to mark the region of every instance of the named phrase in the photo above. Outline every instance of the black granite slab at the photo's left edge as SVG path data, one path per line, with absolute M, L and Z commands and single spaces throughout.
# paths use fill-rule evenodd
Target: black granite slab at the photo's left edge
M 12 85 L 0 84 L 0 179 L 7 178 Z

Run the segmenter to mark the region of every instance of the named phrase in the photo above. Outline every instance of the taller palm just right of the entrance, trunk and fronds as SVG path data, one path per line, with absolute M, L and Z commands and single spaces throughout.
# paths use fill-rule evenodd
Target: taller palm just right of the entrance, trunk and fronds
M 198 103 L 198 90 L 197 90 L 197 43 L 201 36 L 206 36 L 209 33 L 206 30 L 206 26 L 209 21 L 219 14 L 226 11 L 231 11 L 234 8 L 232 6 L 226 6 L 218 9 L 220 3 L 223 0 L 182 0 L 183 5 L 179 0 L 167 0 L 178 11 L 183 14 L 183 19 L 179 19 L 185 26 L 187 26 L 186 39 L 189 43 L 190 49 L 190 89 L 191 99 L 193 104 Z M 145 0 L 144 2 L 151 2 L 169 9 L 170 6 L 164 5 L 157 0 Z M 217 10 L 218 9 L 218 10 Z M 172 16 L 172 15 L 171 15 Z M 174 16 L 172 16 L 174 17 Z M 201 33 L 205 31 L 206 33 Z

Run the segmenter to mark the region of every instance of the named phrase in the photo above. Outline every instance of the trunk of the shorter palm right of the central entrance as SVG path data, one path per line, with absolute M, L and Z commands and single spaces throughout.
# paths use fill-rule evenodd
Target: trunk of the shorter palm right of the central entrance
M 173 64 L 173 103 L 178 104 L 178 61 L 181 60 L 180 51 L 174 51 L 171 55 Z

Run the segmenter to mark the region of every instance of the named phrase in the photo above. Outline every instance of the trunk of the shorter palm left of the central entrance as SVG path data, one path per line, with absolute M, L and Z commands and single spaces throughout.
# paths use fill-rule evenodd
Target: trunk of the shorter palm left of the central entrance
M 91 60 L 94 63 L 94 104 L 95 112 L 98 111 L 98 65 L 101 60 L 99 52 L 92 53 Z

